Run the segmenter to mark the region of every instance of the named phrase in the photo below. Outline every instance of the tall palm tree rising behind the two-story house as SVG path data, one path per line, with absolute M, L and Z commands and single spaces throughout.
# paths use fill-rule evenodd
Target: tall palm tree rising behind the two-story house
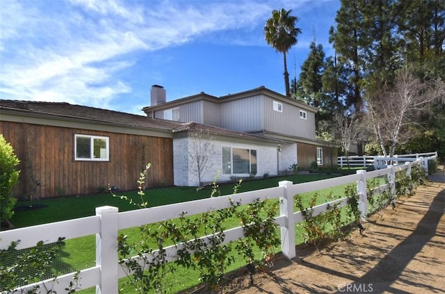
M 272 17 L 266 21 L 264 35 L 266 42 L 277 52 L 281 52 L 284 58 L 284 85 L 286 96 L 291 96 L 289 89 L 289 72 L 287 72 L 286 53 L 294 44 L 297 44 L 297 35 L 301 33 L 300 28 L 296 28 L 298 17 L 291 15 L 292 10 L 273 10 Z

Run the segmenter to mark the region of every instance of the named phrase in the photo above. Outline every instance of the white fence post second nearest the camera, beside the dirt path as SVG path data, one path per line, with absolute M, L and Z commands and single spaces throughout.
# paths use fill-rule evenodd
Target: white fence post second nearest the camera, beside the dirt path
M 288 259 L 296 256 L 295 241 L 295 220 L 293 218 L 293 195 L 290 195 L 289 188 L 291 181 L 280 181 L 278 186 L 284 187 L 284 196 L 280 197 L 280 216 L 285 217 L 284 227 L 281 231 L 281 252 Z

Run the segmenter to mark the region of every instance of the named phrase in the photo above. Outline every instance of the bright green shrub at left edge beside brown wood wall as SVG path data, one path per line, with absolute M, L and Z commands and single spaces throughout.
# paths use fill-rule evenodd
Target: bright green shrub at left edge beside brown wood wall
M 9 220 L 14 214 L 17 199 L 12 194 L 19 181 L 20 171 L 16 169 L 19 162 L 13 147 L 0 135 L 0 221 Z

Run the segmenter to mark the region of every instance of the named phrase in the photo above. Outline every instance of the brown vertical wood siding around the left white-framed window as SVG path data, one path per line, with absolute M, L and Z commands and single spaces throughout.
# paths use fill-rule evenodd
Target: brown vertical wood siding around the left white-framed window
M 152 163 L 147 187 L 173 185 L 171 138 L 3 121 L 0 133 L 20 160 L 19 184 L 14 191 L 18 198 L 97 193 L 108 184 L 136 190 L 146 163 Z M 74 161 L 76 133 L 108 136 L 110 161 Z

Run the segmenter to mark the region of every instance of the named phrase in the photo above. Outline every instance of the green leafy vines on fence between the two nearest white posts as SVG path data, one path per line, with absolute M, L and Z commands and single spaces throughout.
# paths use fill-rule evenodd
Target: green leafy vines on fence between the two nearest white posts
M 140 208 L 147 207 L 144 200 L 143 183 L 147 176 L 150 165 L 141 172 L 139 183 L 139 195 L 141 204 L 133 202 L 125 196 L 117 196 L 129 201 Z M 239 180 L 233 190 L 234 194 L 241 187 Z M 216 178 L 211 183 L 210 197 L 220 195 L 220 189 Z M 218 211 L 207 211 L 199 217 L 187 217 L 187 212 L 181 213 L 178 220 L 168 220 L 157 224 L 140 226 L 140 241 L 130 243 L 128 236 L 118 237 L 118 252 L 120 264 L 127 268 L 128 283 L 132 284 L 138 293 L 156 291 L 156 293 L 167 293 L 170 285 L 165 284 L 165 275 L 174 272 L 175 267 L 168 263 L 168 256 L 163 249 L 165 245 L 175 245 L 177 250 L 178 266 L 193 268 L 200 272 L 202 283 L 216 288 L 225 281 L 224 275 L 227 268 L 235 261 L 234 247 L 237 254 L 245 257 L 248 263 L 260 264 L 260 259 L 255 259 L 254 247 L 261 251 L 262 261 L 271 261 L 274 247 L 280 244 L 277 236 L 275 223 L 275 212 L 277 202 L 266 204 L 259 199 L 241 208 L 241 202 L 230 200 L 230 207 Z M 225 243 L 227 223 L 231 218 L 240 218 L 245 238 L 238 240 L 235 246 Z M 156 225 L 156 227 L 154 227 Z M 207 236 L 207 238 L 202 238 Z M 156 240 L 156 247 L 153 245 Z M 137 256 L 136 259 L 129 259 Z

